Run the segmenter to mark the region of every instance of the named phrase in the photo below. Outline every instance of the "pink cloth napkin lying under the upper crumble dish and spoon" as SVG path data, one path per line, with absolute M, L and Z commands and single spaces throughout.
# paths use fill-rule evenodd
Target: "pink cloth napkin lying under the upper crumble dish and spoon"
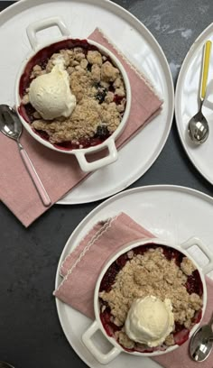
M 117 148 L 125 144 L 139 128 L 160 112 L 162 101 L 121 53 L 116 51 L 102 32 L 95 30 L 89 37 L 106 46 L 123 63 L 132 88 L 132 106 L 124 133 L 116 141 Z M 2 101 L 4 103 L 4 101 Z M 75 157 L 50 149 L 37 143 L 29 133 L 23 132 L 21 143 L 38 171 L 52 204 L 74 188 L 88 174 L 79 169 Z M 0 133 L 0 199 L 23 225 L 31 225 L 48 208 L 42 205 L 32 180 L 23 166 L 16 143 Z

